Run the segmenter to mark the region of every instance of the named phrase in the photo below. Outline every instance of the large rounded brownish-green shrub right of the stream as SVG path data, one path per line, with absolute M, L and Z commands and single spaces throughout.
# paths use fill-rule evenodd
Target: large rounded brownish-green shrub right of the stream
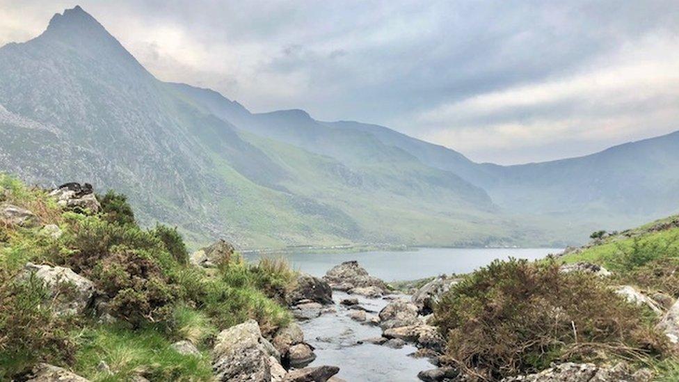
M 552 361 L 657 355 L 665 340 L 640 308 L 586 273 L 554 262 L 495 261 L 442 296 L 434 320 L 445 359 L 483 379 L 537 372 Z

